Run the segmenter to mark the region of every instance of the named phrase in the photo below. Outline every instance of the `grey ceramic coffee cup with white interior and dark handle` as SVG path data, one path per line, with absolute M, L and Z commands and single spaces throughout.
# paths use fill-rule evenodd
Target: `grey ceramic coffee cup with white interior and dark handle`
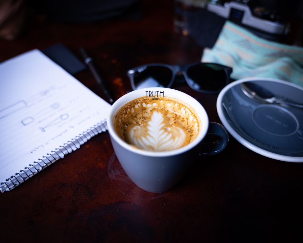
M 156 94 L 155 91 L 161 92 L 162 96 L 159 99 L 170 97 L 188 104 L 199 118 L 198 135 L 188 145 L 170 151 L 148 151 L 135 148 L 117 135 L 114 125 L 117 111 L 130 101 L 146 97 L 150 92 Z M 174 187 L 191 166 L 193 158 L 199 154 L 212 155 L 221 152 L 228 143 L 228 133 L 225 128 L 218 123 L 209 123 L 205 109 L 196 99 L 170 88 L 144 88 L 123 95 L 112 105 L 107 125 L 115 154 L 128 177 L 138 187 L 153 193 L 165 192 Z M 207 145 L 204 145 L 202 140 L 207 135 L 208 129 L 211 130 L 209 134 L 214 137 L 211 138 L 213 141 L 208 141 Z M 203 152 L 200 152 L 201 150 Z

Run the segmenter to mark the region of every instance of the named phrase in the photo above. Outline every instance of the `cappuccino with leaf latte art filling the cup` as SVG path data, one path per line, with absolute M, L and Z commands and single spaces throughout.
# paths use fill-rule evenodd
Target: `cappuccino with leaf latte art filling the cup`
M 195 111 L 177 99 L 142 97 L 119 109 L 114 127 L 121 139 L 138 149 L 168 151 L 192 142 L 200 122 Z

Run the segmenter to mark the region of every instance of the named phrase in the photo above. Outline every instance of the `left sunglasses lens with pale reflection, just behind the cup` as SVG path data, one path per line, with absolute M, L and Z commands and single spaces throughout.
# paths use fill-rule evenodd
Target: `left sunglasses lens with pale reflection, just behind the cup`
M 168 87 L 172 78 L 172 71 L 163 66 L 142 66 L 134 74 L 136 89 L 148 87 Z

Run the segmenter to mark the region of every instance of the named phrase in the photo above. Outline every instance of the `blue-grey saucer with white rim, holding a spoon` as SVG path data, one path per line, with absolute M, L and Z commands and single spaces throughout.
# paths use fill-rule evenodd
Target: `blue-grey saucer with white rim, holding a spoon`
M 217 111 L 227 131 L 242 145 L 263 156 L 303 162 L 303 108 L 268 104 L 248 97 L 241 83 L 253 82 L 276 97 L 303 104 L 303 88 L 269 78 L 245 78 L 218 95 Z

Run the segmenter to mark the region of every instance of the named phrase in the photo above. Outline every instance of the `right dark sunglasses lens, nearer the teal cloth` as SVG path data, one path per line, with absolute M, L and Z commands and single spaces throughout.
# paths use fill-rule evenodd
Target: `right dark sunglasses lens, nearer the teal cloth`
M 198 91 L 219 92 L 227 84 L 224 67 L 215 63 L 201 63 L 187 70 L 189 85 Z

